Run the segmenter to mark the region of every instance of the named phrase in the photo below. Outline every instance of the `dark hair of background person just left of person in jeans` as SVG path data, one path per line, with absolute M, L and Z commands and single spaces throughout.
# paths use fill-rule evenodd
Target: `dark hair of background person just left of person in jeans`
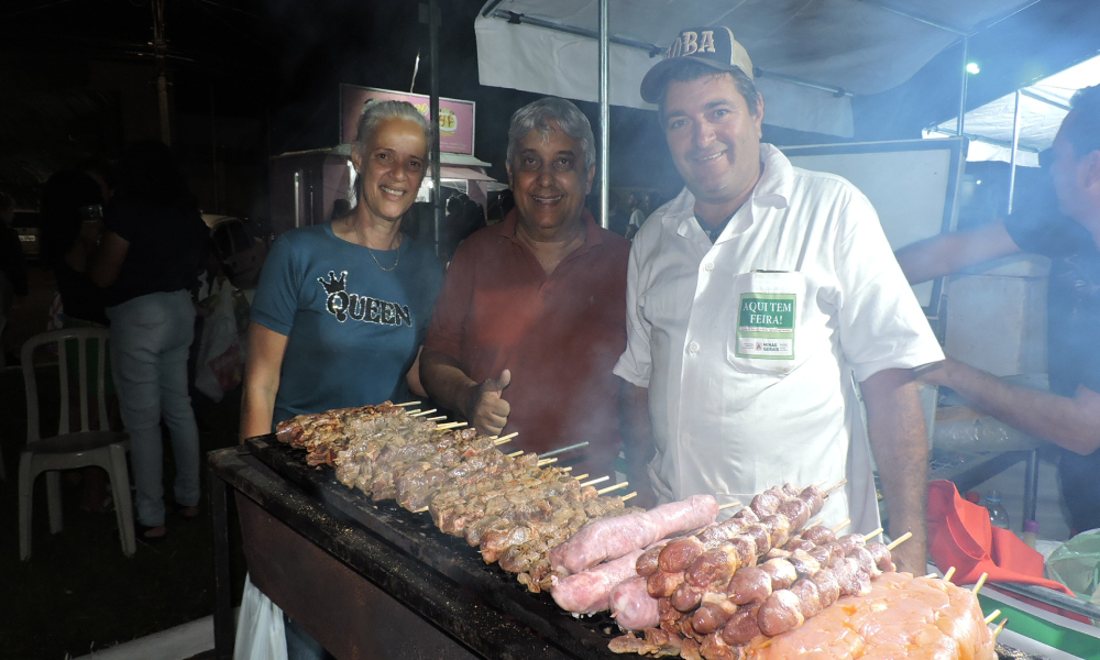
M 103 204 L 96 179 L 82 170 L 66 169 L 50 177 L 42 190 L 42 261 L 56 266 L 80 234 L 80 209 Z

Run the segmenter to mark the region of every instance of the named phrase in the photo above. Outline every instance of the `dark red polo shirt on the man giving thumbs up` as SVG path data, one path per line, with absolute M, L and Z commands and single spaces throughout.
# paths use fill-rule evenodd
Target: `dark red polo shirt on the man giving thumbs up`
M 584 211 L 584 243 L 550 275 L 516 237 L 513 210 L 468 238 L 451 262 L 425 339 L 426 351 L 459 361 L 481 383 L 512 371 L 507 447 L 544 452 L 583 440 L 561 457 L 573 472 L 614 473 L 619 450 L 619 380 L 626 348 L 630 243 Z

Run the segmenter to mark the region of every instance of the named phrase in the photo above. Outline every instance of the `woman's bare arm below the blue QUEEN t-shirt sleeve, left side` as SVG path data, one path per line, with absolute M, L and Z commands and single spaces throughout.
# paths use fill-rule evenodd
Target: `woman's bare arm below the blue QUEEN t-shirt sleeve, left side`
M 287 337 L 253 321 L 249 326 L 249 351 L 244 364 L 240 439 L 272 431 L 275 394 L 278 392 Z

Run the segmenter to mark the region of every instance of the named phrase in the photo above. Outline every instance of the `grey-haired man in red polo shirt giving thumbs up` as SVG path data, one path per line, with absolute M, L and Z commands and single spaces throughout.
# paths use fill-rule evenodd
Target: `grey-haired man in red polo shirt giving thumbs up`
M 630 244 L 584 208 L 595 148 L 573 103 L 544 98 L 512 117 L 516 208 L 459 246 L 428 327 L 420 380 L 479 431 L 519 431 L 512 447 L 612 474 L 619 450 L 612 374 L 626 348 Z

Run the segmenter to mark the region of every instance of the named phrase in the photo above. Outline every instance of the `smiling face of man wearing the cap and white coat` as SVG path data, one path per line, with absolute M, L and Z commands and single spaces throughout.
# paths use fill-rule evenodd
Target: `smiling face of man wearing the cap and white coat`
M 698 204 L 728 208 L 728 217 L 748 199 L 760 178 L 762 119 L 762 100 L 756 116 L 750 114 L 729 74 L 669 82 L 662 107 L 664 136 Z

